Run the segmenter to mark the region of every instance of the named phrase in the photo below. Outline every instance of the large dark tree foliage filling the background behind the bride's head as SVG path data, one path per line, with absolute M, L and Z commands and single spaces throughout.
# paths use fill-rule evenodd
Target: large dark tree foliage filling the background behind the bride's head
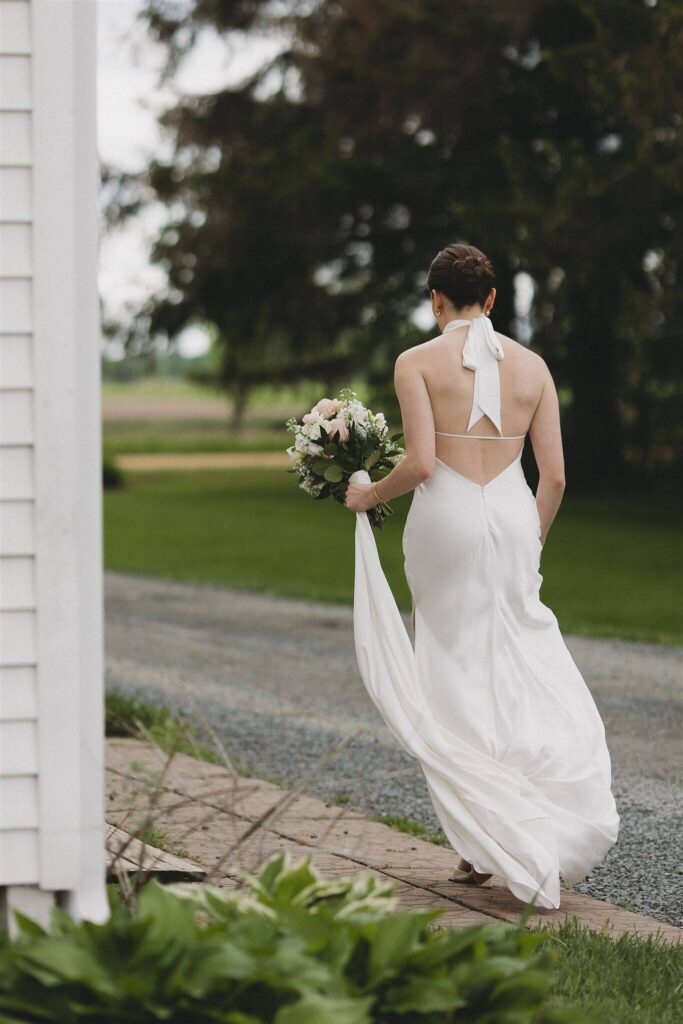
M 226 381 L 251 353 L 296 375 L 323 351 L 386 387 L 423 337 L 429 260 L 461 240 L 497 266 L 499 330 L 515 333 L 515 274 L 535 282 L 574 482 L 680 437 L 678 4 L 148 0 L 143 16 L 168 75 L 202 28 L 288 40 L 239 88 L 169 111 L 175 153 L 147 177 L 180 210 L 155 251 L 179 296 L 164 315 L 217 326 Z

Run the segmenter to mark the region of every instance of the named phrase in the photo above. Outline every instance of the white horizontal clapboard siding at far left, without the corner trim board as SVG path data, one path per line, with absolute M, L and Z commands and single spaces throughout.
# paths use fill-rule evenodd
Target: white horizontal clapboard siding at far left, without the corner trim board
M 31 4 L 0 0 L 0 886 L 40 882 Z M 15 895 L 17 899 L 15 899 Z

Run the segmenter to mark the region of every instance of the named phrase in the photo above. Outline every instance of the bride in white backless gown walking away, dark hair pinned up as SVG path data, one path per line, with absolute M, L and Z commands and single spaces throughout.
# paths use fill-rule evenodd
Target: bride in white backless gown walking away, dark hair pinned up
M 602 720 L 540 597 L 564 492 L 557 392 L 541 356 L 494 331 L 495 280 L 472 246 L 431 263 L 440 333 L 395 364 L 405 455 L 376 483 L 355 474 L 345 497 L 358 513 L 355 649 L 461 857 L 453 881 L 496 877 L 523 901 L 559 907 L 560 880 L 572 885 L 604 858 L 620 817 Z M 527 434 L 536 496 L 520 461 Z M 411 490 L 414 644 L 364 514 Z

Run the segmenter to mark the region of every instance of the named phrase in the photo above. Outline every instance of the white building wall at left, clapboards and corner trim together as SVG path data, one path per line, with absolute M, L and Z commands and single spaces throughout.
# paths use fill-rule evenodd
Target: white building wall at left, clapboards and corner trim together
M 0 891 L 98 919 L 94 19 L 94 0 L 0 0 Z

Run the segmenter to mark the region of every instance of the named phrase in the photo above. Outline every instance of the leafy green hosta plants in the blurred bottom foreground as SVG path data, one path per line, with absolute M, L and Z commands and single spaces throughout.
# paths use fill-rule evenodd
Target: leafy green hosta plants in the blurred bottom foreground
M 370 872 L 326 881 L 286 853 L 236 892 L 178 885 L 118 899 L 104 925 L 17 915 L 0 946 L 0 1022 L 565 1024 L 554 949 L 517 925 L 432 930 Z

